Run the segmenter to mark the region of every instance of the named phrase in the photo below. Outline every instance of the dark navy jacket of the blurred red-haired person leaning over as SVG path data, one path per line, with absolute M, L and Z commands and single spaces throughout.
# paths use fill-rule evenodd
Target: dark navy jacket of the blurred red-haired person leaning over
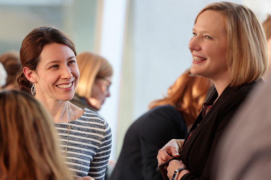
M 186 134 L 182 116 L 174 107 L 151 109 L 126 132 L 110 180 L 163 180 L 157 168 L 158 151 L 171 139 L 184 139 Z

